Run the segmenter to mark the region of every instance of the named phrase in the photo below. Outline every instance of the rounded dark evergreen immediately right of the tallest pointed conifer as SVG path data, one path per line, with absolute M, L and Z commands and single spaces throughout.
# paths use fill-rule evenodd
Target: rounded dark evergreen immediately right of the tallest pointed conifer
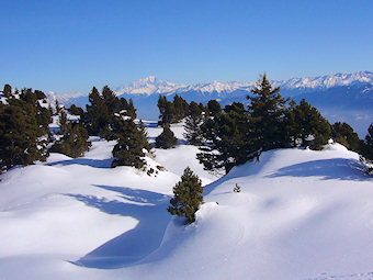
M 289 110 L 286 131 L 294 146 L 320 149 L 330 138 L 331 127 L 318 110 L 303 99 Z

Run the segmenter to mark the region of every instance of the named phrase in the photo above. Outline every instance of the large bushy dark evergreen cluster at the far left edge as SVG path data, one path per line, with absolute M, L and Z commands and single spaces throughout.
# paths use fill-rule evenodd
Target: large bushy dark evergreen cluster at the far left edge
M 0 169 L 45 160 L 50 112 L 39 104 L 44 93 L 23 89 L 18 99 L 10 86 L 4 91 L 8 104 L 0 103 Z

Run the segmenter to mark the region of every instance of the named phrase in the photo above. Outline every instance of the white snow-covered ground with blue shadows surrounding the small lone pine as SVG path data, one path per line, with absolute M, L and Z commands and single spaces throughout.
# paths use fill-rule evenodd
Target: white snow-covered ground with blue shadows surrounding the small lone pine
M 373 179 L 357 154 L 272 150 L 213 182 L 172 130 L 180 145 L 148 159 L 157 177 L 110 168 L 115 142 L 98 138 L 2 175 L 0 279 L 373 279 Z M 166 211 L 187 166 L 207 184 L 190 226 Z

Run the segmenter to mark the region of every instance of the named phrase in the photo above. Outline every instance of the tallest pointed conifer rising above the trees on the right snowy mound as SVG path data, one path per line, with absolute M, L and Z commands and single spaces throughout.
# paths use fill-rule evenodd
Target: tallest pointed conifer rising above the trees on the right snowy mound
M 285 147 L 289 139 L 285 131 L 285 112 L 289 99 L 272 88 L 265 74 L 252 87 L 253 97 L 248 96 L 249 130 L 248 159 L 259 158 L 262 152 Z

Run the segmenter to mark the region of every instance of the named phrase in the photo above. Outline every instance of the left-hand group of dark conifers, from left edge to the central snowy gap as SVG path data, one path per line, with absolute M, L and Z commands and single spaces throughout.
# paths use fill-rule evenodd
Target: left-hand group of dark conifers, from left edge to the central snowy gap
M 68 120 L 67 113 L 77 120 Z M 59 121 L 56 133 L 49 130 L 54 116 Z M 108 86 L 101 92 L 93 87 L 83 110 L 75 104 L 65 109 L 58 101 L 53 109 L 44 92 L 5 85 L 0 102 L 0 171 L 45 161 L 49 153 L 80 157 L 91 147 L 89 136 L 117 141 L 112 167 L 142 168 L 152 146 L 143 122 L 135 119 L 133 101 L 118 99 Z

